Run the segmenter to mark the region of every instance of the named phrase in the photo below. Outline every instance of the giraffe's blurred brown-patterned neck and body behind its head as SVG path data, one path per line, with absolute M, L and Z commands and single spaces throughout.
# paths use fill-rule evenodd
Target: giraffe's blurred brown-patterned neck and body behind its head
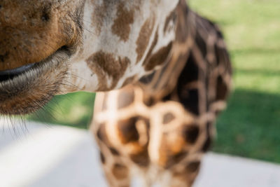
M 164 66 L 97 94 L 91 130 L 110 186 L 130 186 L 134 175 L 146 186 L 192 186 L 225 109 L 232 69 L 220 29 L 183 4 L 170 16 L 177 35 L 188 28 Z

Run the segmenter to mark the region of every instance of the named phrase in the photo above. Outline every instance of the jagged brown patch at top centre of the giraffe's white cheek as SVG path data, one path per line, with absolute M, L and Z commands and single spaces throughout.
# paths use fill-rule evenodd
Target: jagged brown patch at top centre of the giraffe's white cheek
M 112 26 L 113 34 L 120 37 L 121 40 L 127 41 L 130 36 L 130 25 L 134 22 L 134 11 L 128 11 L 125 4 L 118 5 L 117 18 Z

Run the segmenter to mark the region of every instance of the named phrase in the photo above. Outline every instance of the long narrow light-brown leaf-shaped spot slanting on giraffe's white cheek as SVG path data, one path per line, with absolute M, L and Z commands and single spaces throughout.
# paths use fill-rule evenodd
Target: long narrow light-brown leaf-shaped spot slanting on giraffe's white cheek
M 143 57 L 146 48 L 148 47 L 148 43 L 151 39 L 151 34 L 153 32 L 153 27 L 155 24 L 155 18 L 149 18 L 146 20 L 144 25 L 141 27 L 138 39 L 137 39 L 137 62 L 141 60 Z

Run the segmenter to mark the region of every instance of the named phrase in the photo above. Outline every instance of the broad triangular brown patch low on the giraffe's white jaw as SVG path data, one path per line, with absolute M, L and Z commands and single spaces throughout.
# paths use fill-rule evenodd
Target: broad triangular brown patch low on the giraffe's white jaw
M 94 53 L 86 62 L 94 74 L 97 74 L 99 81 L 98 91 L 115 88 L 130 64 L 130 60 L 127 57 L 115 57 L 113 54 L 104 53 L 103 51 Z M 107 85 L 107 76 L 113 79 L 112 85 Z

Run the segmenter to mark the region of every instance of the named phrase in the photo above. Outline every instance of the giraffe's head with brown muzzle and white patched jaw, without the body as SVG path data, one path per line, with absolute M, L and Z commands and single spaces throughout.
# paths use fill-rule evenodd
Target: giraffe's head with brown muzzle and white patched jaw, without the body
M 170 57 L 179 0 L 0 1 L 0 113 L 53 95 L 105 91 Z

